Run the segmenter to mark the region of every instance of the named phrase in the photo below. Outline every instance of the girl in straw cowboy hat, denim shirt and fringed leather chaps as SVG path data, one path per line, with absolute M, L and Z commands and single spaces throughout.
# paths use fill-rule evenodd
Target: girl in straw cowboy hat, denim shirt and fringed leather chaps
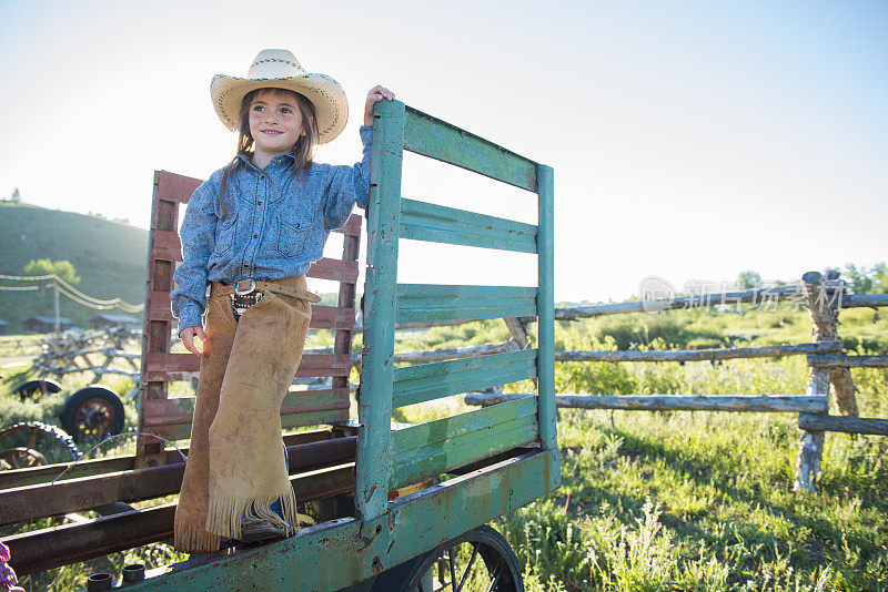
M 394 99 L 382 86 L 370 90 L 363 160 L 331 166 L 312 156 L 345 126 L 345 94 L 333 79 L 305 73 L 291 52 L 260 52 L 246 78 L 213 76 L 210 94 L 239 135 L 234 159 L 189 201 L 184 261 L 170 295 L 179 336 L 201 358 L 175 512 L 175 548 L 185 552 L 214 551 L 220 537 L 261 540 L 297 528 L 280 409 L 302 357 L 310 303 L 320 300 L 305 289 L 305 273 L 353 204 L 366 207 L 373 105 Z

